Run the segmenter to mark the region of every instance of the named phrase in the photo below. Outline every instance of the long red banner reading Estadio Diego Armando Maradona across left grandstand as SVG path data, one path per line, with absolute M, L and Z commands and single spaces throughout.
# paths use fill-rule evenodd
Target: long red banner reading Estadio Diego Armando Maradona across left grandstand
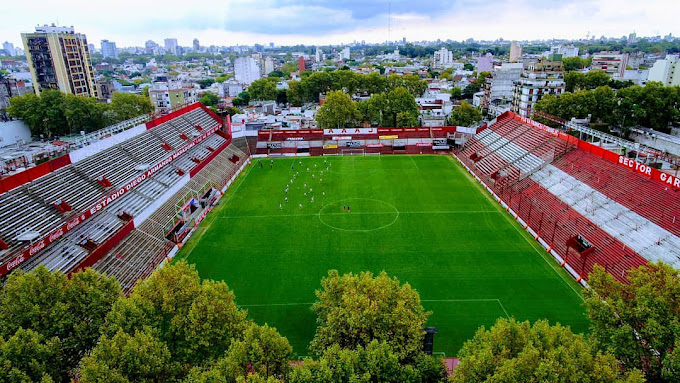
M 137 185 L 140 183 L 144 182 L 148 178 L 151 178 L 154 174 L 156 174 L 158 171 L 163 169 L 165 166 L 167 166 L 169 163 L 177 159 L 179 156 L 182 154 L 186 153 L 189 149 L 193 148 L 197 144 L 199 144 L 201 141 L 205 140 L 210 136 L 212 133 L 217 131 L 218 127 L 212 128 L 209 131 L 206 131 L 202 135 L 196 137 L 192 142 L 186 144 L 184 147 L 179 149 L 177 152 L 174 154 L 166 157 L 163 159 L 161 162 L 157 163 L 156 165 L 150 167 L 147 169 L 144 173 L 140 174 L 137 176 L 135 179 L 129 181 L 125 185 L 121 186 L 120 188 L 114 190 L 113 192 L 108 193 L 106 196 L 102 197 L 99 201 L 94 203 L 88 210 L 82 212 L 81 214 L 75 216 L 68 222 L 64 223 L 61 225 L 59 228 L 53 230 L 51 233 L 40 239 L 39 241 L 33 243 L 30 247 L 25 249 L 21 254 L 17 255 L 14 257 L 11 261 L 5 263 L 4 265 L 0 266 L 0 276 L 4 276 L 13 269 L 15 269 L 17 266 L 21 265 L 24 263 L 27 259 L 31 258 L 59 238 L 63 237 L 66 233 L 69 231 L 73 230 L 74 228 L 78 227 L 81 223 L 85 222 L 88 218 L 92 217 L 96 213 L 98 213 L 100 210 L 103 210 L 109 204 L 112 202 L 116 201 L 125 193 L 129 192 L 133 188 L 135 188 Z

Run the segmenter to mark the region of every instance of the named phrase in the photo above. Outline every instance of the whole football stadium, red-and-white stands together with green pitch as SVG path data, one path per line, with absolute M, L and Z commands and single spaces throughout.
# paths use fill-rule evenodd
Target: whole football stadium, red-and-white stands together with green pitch
M 454 357 L 498 318 L 587 333 L 602 266 L 680 259 L 680 179 L 506 112 L 479 128 L 254 130 L 200 103 L 0 180 L 0 275 L 38 265 L 126 293 L 178 260 L 312 355 L 329 270 L 385 271 Z M 643 151 L 647 150 L 647 151 Z

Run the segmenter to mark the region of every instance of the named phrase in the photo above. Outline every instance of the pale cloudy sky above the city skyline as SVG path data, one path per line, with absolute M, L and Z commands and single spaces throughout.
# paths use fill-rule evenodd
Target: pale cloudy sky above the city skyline
M 37 24 L 73 25 L 99 48 L 340 44 L 354 40 L 506 40 L 680 35 L 679 0 L 5 0 L 0 41 L 20 46 Z M 388 35 L 388 14 L 391 29 Z

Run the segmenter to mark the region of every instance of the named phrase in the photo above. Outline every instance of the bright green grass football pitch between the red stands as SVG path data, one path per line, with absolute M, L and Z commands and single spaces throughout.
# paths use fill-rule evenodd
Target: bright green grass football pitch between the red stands
M 435 351 L 449 356 L 499 317 L 587 331 L 579 286 L 454 161 L 305 157 L 270 168 L 254 159 L 176 259 L 226 281 L 298 356 L 309 354 L 310 305 L 329 269 L 410 283 L 433 312 Z

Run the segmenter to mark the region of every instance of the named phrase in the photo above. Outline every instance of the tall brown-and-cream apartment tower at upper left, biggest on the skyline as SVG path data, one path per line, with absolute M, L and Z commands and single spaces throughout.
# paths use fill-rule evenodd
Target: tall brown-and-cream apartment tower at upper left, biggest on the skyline
M 85 35 L 73 27 L 36 27 L 22 33 L 28 68 L 36 94 L 58 89 L 76 96 L 97 97 L 97 87 Z

